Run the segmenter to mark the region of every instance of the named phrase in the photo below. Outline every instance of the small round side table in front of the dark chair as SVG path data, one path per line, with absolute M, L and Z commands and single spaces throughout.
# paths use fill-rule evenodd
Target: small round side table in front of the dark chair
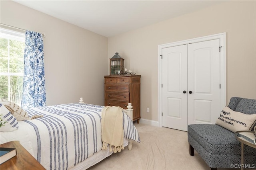
M 241 142 L 241 170 L 244 169 L 244 144 L 256 148 L 254 131 L 237 131 L 236 139 Z

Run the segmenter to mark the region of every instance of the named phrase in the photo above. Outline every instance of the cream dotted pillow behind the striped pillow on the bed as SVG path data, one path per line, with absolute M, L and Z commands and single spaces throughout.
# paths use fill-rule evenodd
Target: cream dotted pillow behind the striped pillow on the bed
M 2 102 L 2 104 L 4 104 L 4 106 L 12 113 L 17 121 L 31 120 L 30 117 L 28 117 L 28 113 L 14 102 L 7 101 Z

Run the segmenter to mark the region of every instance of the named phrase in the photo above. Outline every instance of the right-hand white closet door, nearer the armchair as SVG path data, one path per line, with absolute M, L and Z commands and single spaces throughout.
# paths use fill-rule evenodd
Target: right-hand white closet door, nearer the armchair
M 219 46 L 219 39 L 188 44 L 188 125 L 214 124 L 219 116 Z

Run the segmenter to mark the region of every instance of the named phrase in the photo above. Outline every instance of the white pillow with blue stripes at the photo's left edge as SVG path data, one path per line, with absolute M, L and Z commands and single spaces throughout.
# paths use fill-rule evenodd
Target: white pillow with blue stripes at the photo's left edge
M 0 127 L 1 132 L 10 132 L 19 128 L 16 118 L 12 115 L 12 113 L 10 113 L 8 109 L 6 109 L 6 107 L 4 107 L 2 103 L 0 103 L 0 115 L 2 119 L 1 122 L 3 123 L 6 121 L 6 123 Z

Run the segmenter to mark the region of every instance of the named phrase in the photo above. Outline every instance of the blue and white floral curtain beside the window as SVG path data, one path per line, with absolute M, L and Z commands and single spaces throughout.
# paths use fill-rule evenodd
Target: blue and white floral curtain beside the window
M 42 34 L 34 31 L 26 31 L 21 106 L 46 106 L 44 45 Z

